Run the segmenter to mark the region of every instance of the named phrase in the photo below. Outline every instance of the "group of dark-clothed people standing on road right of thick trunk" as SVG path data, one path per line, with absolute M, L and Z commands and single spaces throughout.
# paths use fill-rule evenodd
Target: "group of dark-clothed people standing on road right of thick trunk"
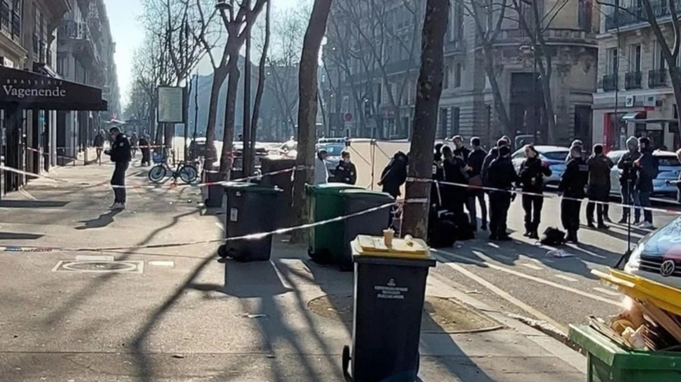
M 524 210 L 524 236 L 539 239 L 544 181 L 546 177 L 552 175 L 552 170 L 541 160 L 535 147 L 524 146 L 525 159 L 516 171 L 511 162 L 509 137 L 498 139 L 488 153 L 481 148 L 478 137 L 471 138 L 471 150 L 464 147 L 460 136 L 454 137 L 452 141 L 453 150 L 441 143 L 435 147 L 432 179 L 436 182 L 431 191 L 433 207 L 442 207 L 454 213 L 462 213 L 465 207 L 469 212 L 473 229 L 477 230 L 476 209 L 479 204 L 480 229 L 486 230 L 487 205 L 484 195 L 488 194 L 490 240 L 507 241 L 510 240 L 507 233 L 508 210 L 516 198 L 516 192 L 513 190 L 520 188 Z M 580 140 L 575 140 L 571 144 L 565 160 L 565 172 L 558 184 L 558 194 L 563 196 L 560 203 L 560 220 L 567 231 L 566 241 L 573 243 L 578 241 L 580 208 L 584 198 L 588 198 L 587 226 L 594 229 L 608 228 L 605 222 L 611 222 L 607 204 L 611 190 L 610 172 L 615 165 L 622 170 L 619 179 L 622 204 L 637 207 L 633 223 L 639 228 L 652 228 L 652 211 L 645 207 L 650 207 L 652 181 L 657 176 L 659 164 L 652 154 L 650 139 L 630 137 L 627 140 L 629 151 L 616 164 L 605 156 L 603 145 L 594 145 L 588 158 L 585 158 L 582 146 Z M 681 150 L 679 156 L 681 158 Z M 681 184 L 681 181 L 674 183 Z M 639 222 L 641 209 L 638 207 L 644 207 L 642 222 Z M 629 210 L 629 207 L 622 209 L 620 224 L 629 221 Z

